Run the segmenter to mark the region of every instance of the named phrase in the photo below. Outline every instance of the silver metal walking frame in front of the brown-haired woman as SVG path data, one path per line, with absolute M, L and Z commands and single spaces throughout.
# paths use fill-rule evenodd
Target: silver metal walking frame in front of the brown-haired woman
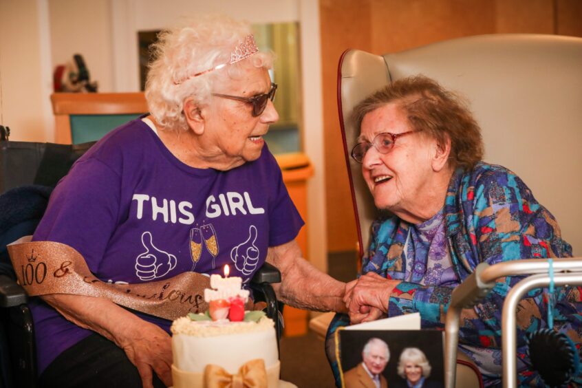
M 572 257 L 554 259 L 554 284 L 582 284 L 582 258 Z M 516 310 L 517 303 L 528 291 L 546 287 L 550 284 L 548 259 L 522 259 L 505 261 L 489 266 L 480 263 L 475 272 L 463 281 L 451 295 L 451 304 L 446 312 L 445 323 L 445 382 L 447 388 L 455 387 L 456 355 L 461 310 L 472 308 L 486 297 L 501 277 L 526 277 L 515 284 L 508 292 L 502 311 L 502 347 L 503 347 L 503 386 L 517 387 L 517 368 L 515 360 L 516 344 Z

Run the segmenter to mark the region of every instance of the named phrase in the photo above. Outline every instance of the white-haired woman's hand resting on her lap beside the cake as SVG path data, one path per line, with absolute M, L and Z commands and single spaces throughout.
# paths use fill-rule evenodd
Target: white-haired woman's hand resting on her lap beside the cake
M 153 373 L 158 375 L 166 387 L 172 385 L 171 337 L 164 330 L 144 322 L 142 325 L 133 325 L 131 333 L 118 338 L 116 342 L 138 368 L 144 388 L 153 388 Z

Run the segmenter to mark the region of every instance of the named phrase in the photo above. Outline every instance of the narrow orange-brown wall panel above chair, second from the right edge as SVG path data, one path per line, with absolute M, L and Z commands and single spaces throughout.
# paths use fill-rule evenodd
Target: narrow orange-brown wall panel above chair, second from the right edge
M 553 34 L 554 1 L 496 0 L 497 33 Z

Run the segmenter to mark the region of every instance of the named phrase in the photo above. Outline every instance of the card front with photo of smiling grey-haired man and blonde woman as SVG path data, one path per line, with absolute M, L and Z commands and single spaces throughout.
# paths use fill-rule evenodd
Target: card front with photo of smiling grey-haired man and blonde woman
M 345 388 L 375 387 L 373 379 L 381 388 L 444 387 L 440 330 L 338 330 L 336 335 Z

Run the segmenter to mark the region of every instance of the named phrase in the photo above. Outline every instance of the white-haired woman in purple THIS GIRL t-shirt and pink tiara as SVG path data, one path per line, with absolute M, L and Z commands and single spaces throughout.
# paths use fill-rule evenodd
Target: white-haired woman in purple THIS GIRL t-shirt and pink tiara
M 301 258 L 303 220 L 263 140 L 279 118 L 271 63 L 248 24 L 227 17 L 163 32 L 147 78 L 150 114 L 76 162 L 33 239 L 73 247 L 106 283 L 222 274 L 229 263 L 246 285 L 269 261 L 285 303 L 345 310 L 345 284 Z M 41 385 L 171 385 L 168 319 L 78 294 L 44 295 L 32 313 Z

